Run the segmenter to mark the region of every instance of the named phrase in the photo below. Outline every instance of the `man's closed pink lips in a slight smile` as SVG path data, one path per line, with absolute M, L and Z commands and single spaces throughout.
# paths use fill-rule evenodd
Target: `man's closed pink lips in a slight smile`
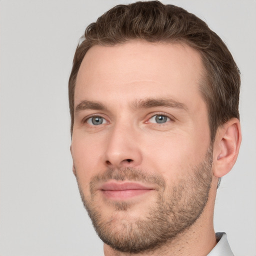
M 102 184 L 99 188 L 106 198 L 112 200 L 127 200 L 129 198 L 148 193 L 153 189 L 153 187 L 147 187 L 136 182 L 127 181 L 121 183 L 109 181 Z

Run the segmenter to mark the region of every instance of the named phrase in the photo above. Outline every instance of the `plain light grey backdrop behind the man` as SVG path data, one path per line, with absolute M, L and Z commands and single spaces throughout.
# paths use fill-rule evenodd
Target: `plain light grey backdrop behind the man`
M 87 24 L 129 0 L 0 0 L 0 256 L 102 255 L 69 153 L 67 81 Z M 215 230 L 256 255 L 255 0 L 164 0 L 205 20 L 241 71 L 243 140 L 222 179 Z

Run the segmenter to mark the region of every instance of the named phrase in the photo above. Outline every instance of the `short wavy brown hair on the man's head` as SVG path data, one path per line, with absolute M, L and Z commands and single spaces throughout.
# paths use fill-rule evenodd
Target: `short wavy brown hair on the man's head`
M 85 29 L 69 77 L 71 134 L 75 81 L 86 51 L 95 44 L 111 46 L 132 39 L 183 42 L 200 53 L 205 74 L 199 89 L 208 109 L 211 141 L 219 125 L 232 117 L 239 118 L 240 73 L 220 37 L 204 21 L 183 8 L 159 1 L 138 1 L 114 6 Z

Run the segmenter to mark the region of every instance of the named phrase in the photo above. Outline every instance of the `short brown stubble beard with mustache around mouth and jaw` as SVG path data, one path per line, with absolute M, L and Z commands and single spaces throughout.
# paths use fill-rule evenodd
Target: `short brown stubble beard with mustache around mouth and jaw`
M 161 175 L 149 175 L 134 168 L 108 169 L 90 181 L 90 197 L 85 198 L 79 180 L 80 195 L 100 239 L 115 250 L 139 253 L 154 251 L 188 229 L 198 219 L 208 200 L 212 179 L 212 148 L 205 158 L 192 167 L 187 175 L 172 187 L 167 187 Z M 108 179 L 132 180 L 157 185 L 156 200 L 148 213 L 136 218 L 127 217 L 129 202 L 110 202 L 113 214 L 103 216 L 103 207 L 95 200 L 94 186 Z M 120 217 L 120 211 L 123 217 Z M 115 217 L 114 213 L 118 213 Z

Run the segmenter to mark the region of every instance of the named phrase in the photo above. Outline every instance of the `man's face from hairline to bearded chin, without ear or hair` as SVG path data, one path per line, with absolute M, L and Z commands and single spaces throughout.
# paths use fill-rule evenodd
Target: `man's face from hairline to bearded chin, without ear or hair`
M 199 53 L 184 44 L 95 45 L 76 80 L 71 153 L 100 238 L 152 249 L 191 226 L 211 183 Z

